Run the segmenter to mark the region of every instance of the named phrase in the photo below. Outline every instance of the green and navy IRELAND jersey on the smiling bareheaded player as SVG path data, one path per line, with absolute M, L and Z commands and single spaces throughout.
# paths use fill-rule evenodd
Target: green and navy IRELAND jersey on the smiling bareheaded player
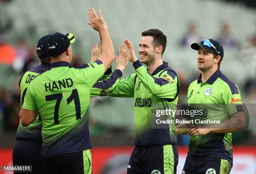
M 140 61 L 133 63 L 135 73 L 120 80 L 108 94 L 115 97 L 134 97 L 136 146 L 177 144 L 175 125 L 169 129 L 151 127 L 151 108 L 154 104 L 176 103 L 179 94 L 177 73 L 164 62 L 150 74 Z M 174 106 L 174 105 L 172 105 Z M 172 109 L 176 109 L 172 108 Z M 174 119 L 168 118 L 168 119 Z

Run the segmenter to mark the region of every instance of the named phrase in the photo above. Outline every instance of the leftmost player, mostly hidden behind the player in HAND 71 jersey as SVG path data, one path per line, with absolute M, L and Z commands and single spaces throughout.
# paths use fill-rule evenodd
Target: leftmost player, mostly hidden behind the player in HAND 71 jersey
M 26 91 L 28 85 L 31 81 L 36 78 L 36 76 L 50 70 L 51 66 L 51 58 L 47 53 L 47 40 L 50 35 L 46 35 L 38 40 L 38 44 L 36 46 L 36 52 L 38 58 L 40 58 L 41 65 L 34 67 L 27 71 L 21 78 L 19 82 L 20 86 L 20 105 L 23 105 L 24 98 L 26 95 Z M 70 43 L 74 43 L 75 38 L 72 33 L 67 33 L 66 36 L 69 38 Z M 95 45 L 96 46 L 96 45 Z M 96 57 L 98 58 L 100 55 L 95 54 L 95 51 L 92 51 L 92 59 L 95 61 Z M 121 55 L 121 53 L 119 54 Z M 108 90 L 108 88 L 113 88 L 115 86 L 114 83 L 117 83 L 119 80 L 118 68 L 121 66 L 123 59 L 117 58 L 117 69 L 112 72 L 111 66 L 102 76 L 102 81 L 98 81 L 94 84 L 91 96 L 100 96 L 102 89 Z M 127 62 L 128 63 L 128 62 Z M 127 66 L 127 64 L 126 64 Z M 114 85 L 113 85 L 114 84 Z M 109 87 L 108 87 L 109 86 Z M 109 90 L 110 90 L 109 89 Z M 31 173 L 35 174 L 45 174 L 45 167 L 42 161 L 42 121 L 41 117 L 38 115 L 36 120 L 31 123 L 29 126 L 23 126 L 21 123 L 18 126 L 18 130 L 16 133 L 16 143 L 13 148 L 13 165 L 31 165 L 33 167 L 33 171 Z M 22 174 L 23 171 L 14 171 L 15 174 Z

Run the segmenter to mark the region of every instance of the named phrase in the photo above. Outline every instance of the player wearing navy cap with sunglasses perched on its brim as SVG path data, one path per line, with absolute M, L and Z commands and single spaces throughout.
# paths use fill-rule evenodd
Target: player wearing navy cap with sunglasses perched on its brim
M 217 40 L 201 40 L 192 43 L 191 48 L 198 50 L 198 69 L 202 73 L 189 85 L 188 105 L 201 103 L 203 107 L 210 108 L 216 106 L 214 104 L 222 104 L 215 108 L 218 114 L 209 118 L 221 116 L 223 122 L 189 129 L 184 129 L 184 125 L 177 126 L 177 135 L 190 136 L 182 174 L 229 174 L 233 165 L 231 133 L 243 129 L 245 125 L 243 107 L 239 104 L 242 103 L 241 95 L 236 84 L 220 71 L 224 50 Z M 231 103 L 236 105 L 232 107 Z M 208 110 L 208 115 L 212 110 Z

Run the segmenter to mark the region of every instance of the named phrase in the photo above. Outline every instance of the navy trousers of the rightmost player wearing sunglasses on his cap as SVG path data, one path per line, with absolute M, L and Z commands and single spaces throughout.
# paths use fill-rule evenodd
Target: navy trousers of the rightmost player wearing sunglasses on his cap
M 187 158 L 182 174 L 229 174 L 232 165 L 226 159 L 189 159 Z

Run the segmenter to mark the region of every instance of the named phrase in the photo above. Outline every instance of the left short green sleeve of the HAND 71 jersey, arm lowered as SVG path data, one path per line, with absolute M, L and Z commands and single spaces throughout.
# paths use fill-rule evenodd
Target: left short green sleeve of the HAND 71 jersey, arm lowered
M 31 111 L 36 111 L 37 110 L 36 103 L 34 101 L 33 96 L 34 96 L 33 88 L 32 88 L 31 85 L 29 85 L 28 89 L 26 91 L 25 100 L 24 100 L 22 108 L 25 108 L 25 109 L 28 109 L 28 110 L 31 110 Z

